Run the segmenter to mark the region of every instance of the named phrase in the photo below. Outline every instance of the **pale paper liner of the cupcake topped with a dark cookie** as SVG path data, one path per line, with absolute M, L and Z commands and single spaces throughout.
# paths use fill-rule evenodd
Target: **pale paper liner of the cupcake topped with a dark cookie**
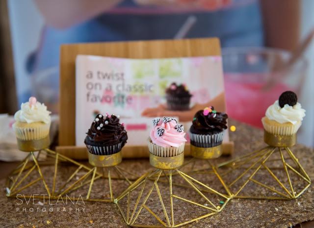
M 278 123 L 278 125 L 271 125 L 271 124 L 266 123 L 265 118 L 266 117 L 262 118 L 262 124 L 263 124 L 264 129 L 267 132 L 271 134 L 275 134 L 275 135 L 293 135 L 298 131 L 298 129 L 302 125 L 301 121 L 291 126 L 283 126 L 283 125 L 280 125 L 280 123 Z

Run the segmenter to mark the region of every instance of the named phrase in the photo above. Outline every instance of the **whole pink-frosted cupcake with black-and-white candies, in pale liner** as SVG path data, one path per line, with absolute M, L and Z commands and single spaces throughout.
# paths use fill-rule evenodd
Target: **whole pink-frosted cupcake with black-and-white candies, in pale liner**
M 178 124 L 173 117 L 155 118 L 153 125 L 148 139 L 151 154 L 159 157 L 173 157 L 183 153 L 186 142 L 183 125 Z

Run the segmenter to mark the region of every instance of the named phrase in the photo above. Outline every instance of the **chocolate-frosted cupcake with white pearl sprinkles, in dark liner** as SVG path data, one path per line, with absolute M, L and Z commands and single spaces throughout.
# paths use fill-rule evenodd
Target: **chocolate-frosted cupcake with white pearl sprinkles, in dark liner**
M 128 140 L 124 124 L 115 115 L 98 114 L 87 131 L 84 143 L 88 152 L 95 155 L 110 155 L 120 152 Z

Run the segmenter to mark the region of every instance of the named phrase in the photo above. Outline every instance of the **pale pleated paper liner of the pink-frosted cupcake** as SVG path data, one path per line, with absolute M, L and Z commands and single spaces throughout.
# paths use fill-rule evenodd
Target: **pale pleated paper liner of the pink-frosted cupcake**
M 161 147 L 152 142 L 150 138 L 148 138 L 148 149 L 149 152 L 155 156 L 159 157 L 173 157 L 178 156 L 184 151 L 184 145 L 180 145 L 179 147 Z

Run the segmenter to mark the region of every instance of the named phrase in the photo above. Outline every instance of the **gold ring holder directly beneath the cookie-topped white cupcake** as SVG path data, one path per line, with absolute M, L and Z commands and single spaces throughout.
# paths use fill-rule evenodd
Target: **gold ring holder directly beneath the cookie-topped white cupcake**
M 276 135 L 264 130 L 264 142 L 273 147 L 292 147 L 296 144 L 296 134 Z

